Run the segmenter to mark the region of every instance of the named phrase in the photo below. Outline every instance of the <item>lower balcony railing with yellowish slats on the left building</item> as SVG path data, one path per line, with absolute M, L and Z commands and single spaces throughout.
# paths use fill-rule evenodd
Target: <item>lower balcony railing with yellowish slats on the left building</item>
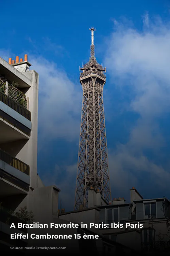
M 27 175 L 30 175 L 30 167 L 26 163 L 20 161 L 19 159 L 9 155 L 5 151 L 0 149 L 0 160 L 8 163 L 8 165 L 13 166 L 17 170 L 24 172 Z

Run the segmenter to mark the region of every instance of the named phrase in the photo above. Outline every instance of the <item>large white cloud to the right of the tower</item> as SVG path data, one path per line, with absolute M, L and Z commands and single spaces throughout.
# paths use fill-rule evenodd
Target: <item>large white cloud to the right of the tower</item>
M 134 91 L 135 97 L 127 110 L 140 116 L 131 128 L 128 143 L 117 146 L 110 154 L 114 191 L 120 189 L 121 184 L 122 189 L 134 183 L 139 185 L 137 177 L 144 172 L 152 175 L 155 185 L 168 186 L 170 181 L 169 170 L 157 166 L 144 153 L 146 149 L 158 153 L 166 145 L 158 118 L 170 112 L 170 25 L 159 18 L 151 23 L 148 14 L 143 24 L 143 31 L 139 32 L 117 22 L 107 42 L 107 71 L 121 86 L 121 92 L 123 85 L 129 85 Z

